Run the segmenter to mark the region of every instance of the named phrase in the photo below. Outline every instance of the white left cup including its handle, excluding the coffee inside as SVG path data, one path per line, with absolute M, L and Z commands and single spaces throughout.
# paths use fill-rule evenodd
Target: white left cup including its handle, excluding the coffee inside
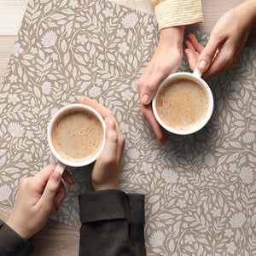
M 77 162 L 77 161 L 73 162 L 73 161 L 70 161 L 70 160 L 67 160 L 67 159 L 63 158 L 61 156 L 61 154 L 59 154 L 56 151 L 56 149 L 54 147 L 54 144 L 53 144 L 53 141 L 52 141 L 52 131 L 53 131 L 53 127 L 55 125 L 55 122 L 57 121 L 57 119 L 61 118 L 61 116 L 64 113 L 68 113 L 69 111 L 72 111 L 72 110 L 86 110 L 86 111 L 90 112 L 91 114 L 96 116 L 96 118 L 100 121 L 100 123 L 102 125 L 102 130 L 103 130 L 102 145 L 101 145 L 100 149 L 90 159 L 82 160 L 80 162 Z M 62 173 L 62 172 L 64 172 L 66 166 L 80 167 L 80 166 L 87 166 L 90 163 L 94 162 L 97 159 L 97 157 L 99 156 L 99 154 L 102 153 L 102 149 L 104 148 L 104 145 L 105 145 L 105 130 L 106 130 L 106 124 L 104 122 L 104 119 L 102 119 L 101 114 L 98 113 L 94 108 L 90 108 L 89 106 L 84 105 L 84 104 L 71 104 L 71 105 L 67 105 L 64 108 L 61 108 L 57 113 L 55 113 L 55 115 L 49 121 L 48 132 L 47 132 L 49 148 L 50 148 L 51 152 L 55 155 L 55 158 L 58 160 L 58 165 L 56 166 L 55 171 L 59 171 L 59 172 Z

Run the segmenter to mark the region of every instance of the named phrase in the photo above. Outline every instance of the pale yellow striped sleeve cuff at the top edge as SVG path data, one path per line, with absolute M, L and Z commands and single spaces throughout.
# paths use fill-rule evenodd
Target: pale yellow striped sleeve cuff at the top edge
M 183 26 L 203 22 L 201 0 L 166 0 L 157 4 L 154 13 L 159 29 L 170 26 Z

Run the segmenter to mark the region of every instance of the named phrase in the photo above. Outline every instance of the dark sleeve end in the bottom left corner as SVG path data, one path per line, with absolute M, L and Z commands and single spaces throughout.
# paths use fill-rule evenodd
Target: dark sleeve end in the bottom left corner
M 0 219 L 0 255 L 1 256 L 26 256 L 32 253 L 34 246 L 22 238 L 15 230 Z

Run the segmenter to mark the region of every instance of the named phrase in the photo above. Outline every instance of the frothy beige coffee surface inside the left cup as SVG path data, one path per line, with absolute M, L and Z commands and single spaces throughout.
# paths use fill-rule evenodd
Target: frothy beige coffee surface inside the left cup
M 83 162 L 94 157 L 102 147 L 103 128 L 90 111 L 72 109 L 55 120 L 51 137 L 55 151 L 63 159 Z

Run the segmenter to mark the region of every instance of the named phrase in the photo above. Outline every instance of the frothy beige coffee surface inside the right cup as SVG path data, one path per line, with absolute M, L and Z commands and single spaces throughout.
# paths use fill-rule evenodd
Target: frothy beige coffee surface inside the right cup
M 207 115 L 207 91 L 192 79 L 173 79 L 156 98 L 156 110 L 162 122 L 176 131 L 199 125 Z

